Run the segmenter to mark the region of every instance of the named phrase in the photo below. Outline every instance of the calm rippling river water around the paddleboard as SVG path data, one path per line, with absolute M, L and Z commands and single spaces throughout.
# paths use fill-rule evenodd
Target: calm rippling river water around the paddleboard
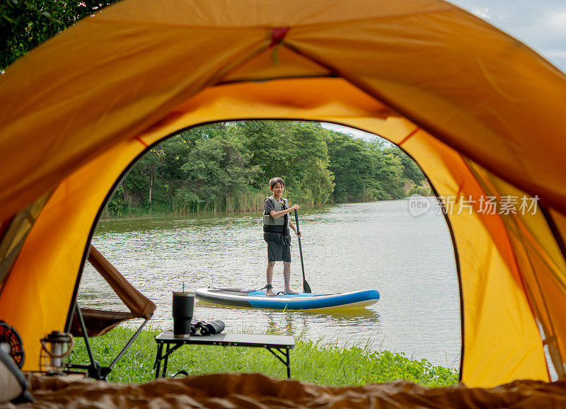
M 306 279 L 315 293 L 377 289 L 381 300 L 346 313 L 267 311 L 195 304 L 198 320 L 220 319 L 228 332 L 266 330 L 337 345 L 404 352 L 458 368 L 460 301 L 454 250 L 441 214 L 411 216 L 407 200 L 301 209 Z M 259 213 L 203 214 L 100 222 L 93 244 L 157 306 L 153 328 L 171 329 L 171 292 L 200 287 L 260 289 L 266 244 Z M 301 290 L 294 237 L 291 287 Z M 282 263 L 274 270 L 282 290 Z M 82 307 L 127 311 L 87 263 Z

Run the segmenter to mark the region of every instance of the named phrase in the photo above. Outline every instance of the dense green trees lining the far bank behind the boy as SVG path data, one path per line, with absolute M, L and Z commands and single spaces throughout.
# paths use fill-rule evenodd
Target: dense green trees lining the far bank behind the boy
M 108 203 L 107 216 L 258 211 L 284 178 L 301 205 L 405 197 L 424 175 L 383 139 L 364 141 L 316 122 L 218 122 L 166 139 L 143 156 Z

